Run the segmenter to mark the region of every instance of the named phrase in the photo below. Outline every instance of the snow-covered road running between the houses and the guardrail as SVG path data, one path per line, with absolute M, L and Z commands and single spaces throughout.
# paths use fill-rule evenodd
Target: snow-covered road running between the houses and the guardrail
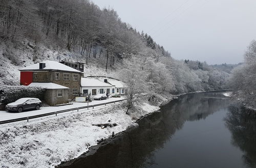
M 100 104 L 100 103 L 105 103 L 105 102 L 110 102 L 110 101 L 115 101 L 115 100 L 122 100 L 124 99 L 123 97 L 121 98 L 109 98 L 106 100 L 94 100 L 92 102 L 89 102 L 89 105 L 95 105 L 95 104 Z M 34 116 L 34 115 L 40 115 L 40 114 L 46 114 L 46 113 L 51 113 L 54 111 L 58 110 L 64 110 L 64 109 L 69 109 L 69 108 L 76 108 L 76 107 L 82 107 L 82 106 L 87 106 L 87 102 L 74 102 L 74 104 L 71 105 L 64 105 L 64 106 L 58 106 L 58 107 L 41 107 L 39 110 L 30 110 L 30 111 L 24 111 L 22 113 L 17 113 L 17 112 L 11 112 L 11 111 L 0 111 L 0 121 L 4 120 L 11 120 L 11 119 L 17 119 L 17 118 L 22 118 L 22 117 L 28 117 L 28 116 Z

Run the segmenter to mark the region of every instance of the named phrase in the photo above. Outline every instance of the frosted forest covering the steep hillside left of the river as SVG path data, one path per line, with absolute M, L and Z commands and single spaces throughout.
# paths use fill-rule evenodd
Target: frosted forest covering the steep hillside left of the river
M 175 60 L 150 35 L 121 21 L 116 11 L 101 10 L 88 0 L 2 0 L 0 18 L 0 56 L 6 60 L 0 62 L 2 84 L 18 85 L 10 82 L 17 76 L 9 75 L 7 66 L 50 59 L 111 70 L 108 75 L 125 81 L 134 93 L 154 99 L 165 93 L 226 88 L 230 71 L 206 62 Z

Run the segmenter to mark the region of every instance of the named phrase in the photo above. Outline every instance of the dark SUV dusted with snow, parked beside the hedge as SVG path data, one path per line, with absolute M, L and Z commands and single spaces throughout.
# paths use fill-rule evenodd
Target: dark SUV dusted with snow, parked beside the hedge
M 37 98 L 21 98 L 5 106 L 8 111 L 18 111 L 19 113 L 27 109 L 40 109 L 42 102 Z

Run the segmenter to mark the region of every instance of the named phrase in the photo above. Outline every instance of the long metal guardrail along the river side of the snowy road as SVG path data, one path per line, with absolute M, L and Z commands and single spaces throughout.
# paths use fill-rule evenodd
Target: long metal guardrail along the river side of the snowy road
M 51 113 L 46 113 L 46 114 L 41 114 L 41 115 L 35 115 L 35 116 L 29 116 L 29 117 L 22 117 L 22 118 L 17 118 L 17 119 L 11 119 L 11 120 L 5 120 L 5 121 L 0 121 L 0 125 L 1 124 L 7 124 L 7 123 L 13 123 L 13 122 L 17 122 L 17 121 L 25 121 L 27 120 L 29 122 L 30 119 L 35 119 L 35 118 L 40 118 L 40 117 L 46 117 L 46 116 L 51 116 L 51 115 L 56 115 L 59 113 L 65 113 L 68 111 L 74 111 L 77 110 L 79 111 L 79 109 L 84 109 L 84 108 L 94 108 L 96 106 L 100 106 L 100 105 L 106 105 L 106 104 L 111 104 L 111 103 L 117 103 L 117 102 L 121 102 L 124 101 L 126 99 L 122 99 L 122 100 L 116 100 L 116 101 L 110 101 L 110 102 L 105 102 L 105 103 L 99 103 L 99 104 L 94 104 L 94 105 L 87 105 L 87 106 L 81 106 L 81 107 L 75 107 L 75 108 L 69 108 L 69 109 L 65 109 L 65 110 L 59 110 L 59 111 L 54 111 Z

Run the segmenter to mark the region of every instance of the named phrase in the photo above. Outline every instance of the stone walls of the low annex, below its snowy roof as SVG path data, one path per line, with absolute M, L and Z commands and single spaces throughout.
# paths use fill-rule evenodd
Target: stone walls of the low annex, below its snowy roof
M 63 89 L 63 96 L 58 97 L 57 95 L 57 89 L 48 89 L 46 90 L 45 93 L 45 101 L 50 105 L 50 106 L 55 106 L 57 104 L 64 104 L 68 103 L 68 89 Z M 55 99 L 56 98 L 56 99 Z

